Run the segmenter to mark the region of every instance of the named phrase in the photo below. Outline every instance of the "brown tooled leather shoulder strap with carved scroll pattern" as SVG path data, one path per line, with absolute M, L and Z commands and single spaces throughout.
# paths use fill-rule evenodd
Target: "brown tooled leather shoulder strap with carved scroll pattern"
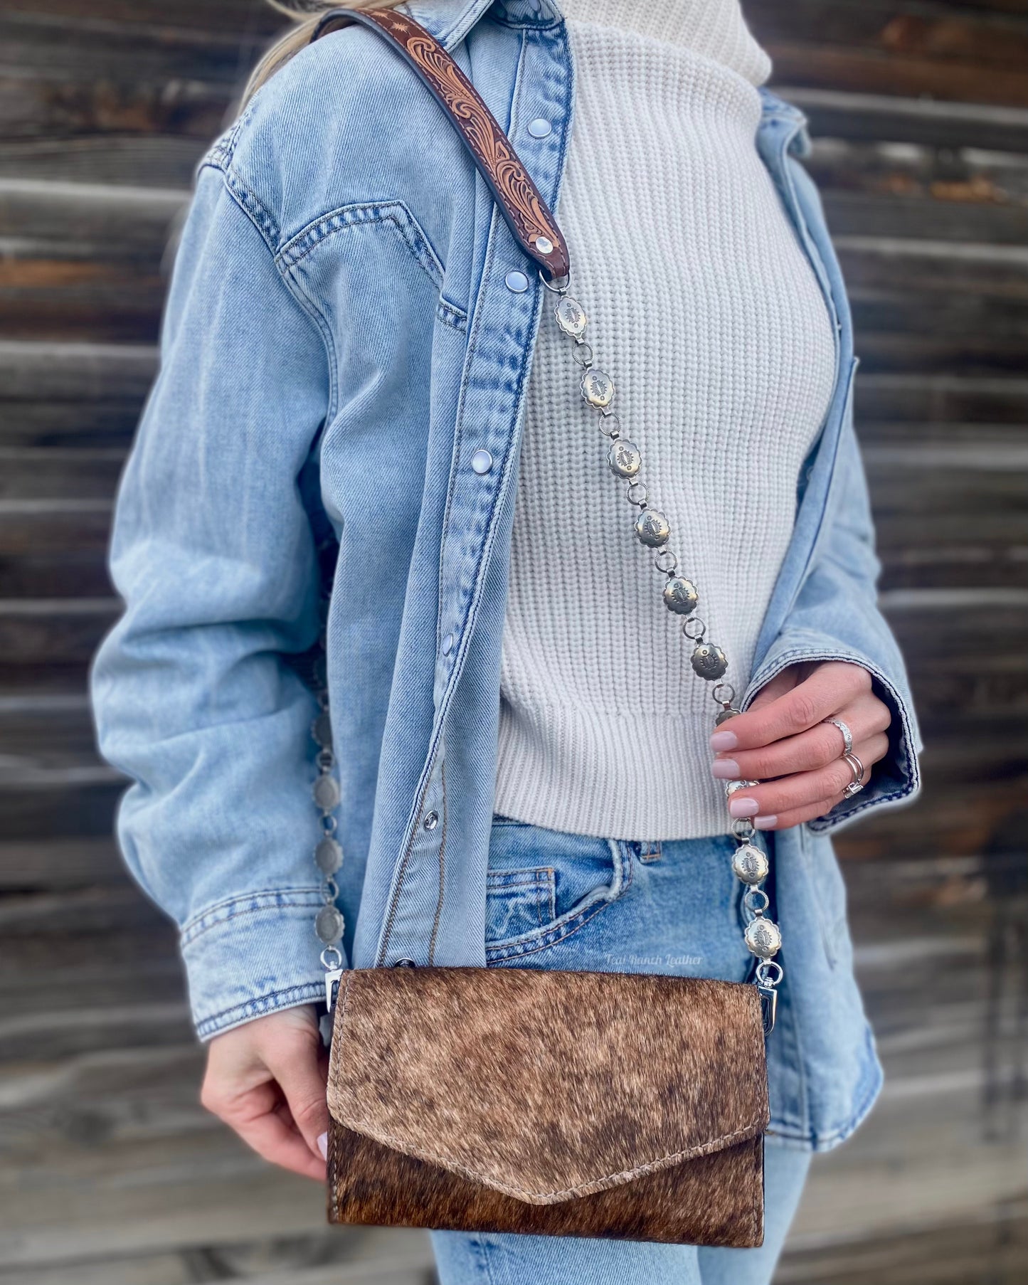
M 418 72 L 450 117 L 490 186 L 518 244 L 549 280 L 568 275 L 564 235 L 550 207 L 522 164 L 514 144 L 478 95 L 474 85 L 425 28 L 397 9 L 333 9 L 311 37 L 360 22 L 380 32 Z

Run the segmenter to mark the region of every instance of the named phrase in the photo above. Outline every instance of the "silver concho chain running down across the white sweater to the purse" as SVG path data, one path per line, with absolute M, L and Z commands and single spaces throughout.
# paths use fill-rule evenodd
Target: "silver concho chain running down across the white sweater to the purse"
M 546 245 L 536 240 L 536 248 L 546 253 Z M 550 247 L 553 248 L 553 247 Z M 589 317 L 582 305 L 568 294 L 571 276 L 562 278 L 556 284 L 547 281 L 540 271 L 540 280 L 559 299 L 554 308 L 556 325 L 562 334 L 569 338 L 574 347 L 572 357 L 582 370 L 582 400 L 599 415 L 600 433 L 608 441 L 607 465 L 616 478 L 626 483 L 628 504 L 637 509 L 634 522 L 636 540 L 646 550 L 655 550 L 654 565 L 663 574 L 662 598 L 672 616 L 682 618 L 682 634 L 693 642 L 690 662 L 698 677 L 712 682 L 711 694 L 721 711 L 716 725 L 741 713 L 734 705 L 735 687 L 722 682 L 727 673 L 729 660 L 714 642 L 708 640 L 707 625 L 694 614 L 699 607 L 699 590 L 678 571 L 678 559 L 671 550 L 671 523 L 667 515 L 655 508 L 649 499 L 649 490 L 641 478 L 642 451 L 625 436 L 621 416 L 612 410 L 614 401 L 614 380 L 604 370 L 596 369 L 592 346 L 586 342 L 585 333 Z M 725 793 L 727 797 L 743 788 L 756 785 L 756 781 L 730 781 Z M 781 930 L 767 916 L 770 898 L 761 884 L 770 874 L 767 855 L 753 840 L 757 829 L 748 819 L 731 822 L 731 834 L 738 847 L 732 853 L 731 869 L 736 879 L 745 884 L 743 905 L 747 911 L 745 943 L 757 957 L 756 982 L 765 1004 L 765 1025 L 770 1031 L 775 1022 L 776 987 L 784 973 L 775 955 L 781 950 Z

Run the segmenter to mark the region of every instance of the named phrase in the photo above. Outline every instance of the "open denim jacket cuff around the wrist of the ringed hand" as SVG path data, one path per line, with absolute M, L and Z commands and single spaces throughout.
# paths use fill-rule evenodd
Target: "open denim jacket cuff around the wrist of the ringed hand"
M 892 713 L 889 749 L 885 757 L 874 765 L 865 788 L 860 794 L 837 803 L 826 816 L 807 822 L 811 830 L 817 833 L 837 830 L 855 821 L 869 808 L 911 802 L 921 788 L 917 756 L 923 748 L 914 705 L 903 678 L 891 677 L 870 657 L 815 634 L 786 632 L 775 642 L 750 680 L 741 708 L 748 709 L 761 689 L 783 669 L 811 660 L 847 660 L 861 666 L 871 675 L 875 695 L 885 702 Z

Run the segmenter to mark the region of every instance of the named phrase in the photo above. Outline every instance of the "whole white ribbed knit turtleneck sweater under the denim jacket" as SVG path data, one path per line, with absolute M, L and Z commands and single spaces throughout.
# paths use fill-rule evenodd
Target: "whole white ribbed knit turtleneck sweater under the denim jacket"
M 556 209 L 571 293 L 741 695 L 835 373 L 820 287 L 754 145 L 768 59 L 738 0 L 560 6 L 577 76 Z M 496 811 L 607 838 L 722 834 L 711 685 L 634 536 L 571 347 L 547 307 L 519 463 Z

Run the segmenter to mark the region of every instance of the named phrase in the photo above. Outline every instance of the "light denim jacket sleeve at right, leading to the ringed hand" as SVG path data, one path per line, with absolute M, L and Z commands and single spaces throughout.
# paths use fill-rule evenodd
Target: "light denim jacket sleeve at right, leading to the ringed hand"
M 879 571 L 864 461 L 853 416 L 847 412 L 812 565 L 744 700 L 745 707 L 790 664 L 849 660 L 870 672 L 875 694 L 889 707 L 885 758 L 875 763 L 860 794 L 808 822 L 812 830 L 835 829 L 869 808 L 908 801 L 920 789 L 923 747 L 903 658 L 878 607 Z

